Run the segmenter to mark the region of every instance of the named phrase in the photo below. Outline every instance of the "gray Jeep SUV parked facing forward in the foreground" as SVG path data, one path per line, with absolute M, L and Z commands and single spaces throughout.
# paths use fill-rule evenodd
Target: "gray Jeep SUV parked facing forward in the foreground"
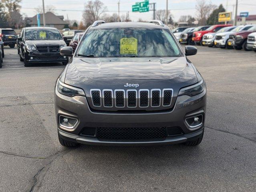
M 161 21 L 96 21 L 55 87 L 63 146 L 198 145 L 204 135 L 206 84 Z

